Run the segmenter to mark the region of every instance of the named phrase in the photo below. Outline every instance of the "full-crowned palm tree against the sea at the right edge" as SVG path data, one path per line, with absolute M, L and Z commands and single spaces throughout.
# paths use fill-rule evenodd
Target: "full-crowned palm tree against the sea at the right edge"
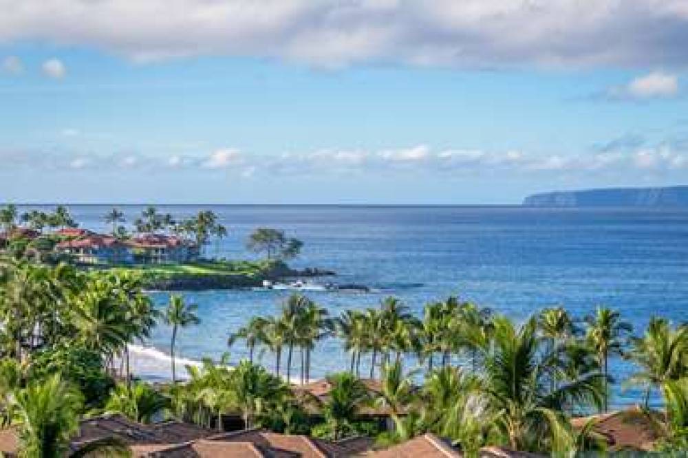
M 688 375 L 688 325 L 671 329 L 664 318 L 649 320 L 645 335 L 632 339 L 631 358 L 641 371 L 626 384 L 645 386 L 645 406 L 653 387 Z

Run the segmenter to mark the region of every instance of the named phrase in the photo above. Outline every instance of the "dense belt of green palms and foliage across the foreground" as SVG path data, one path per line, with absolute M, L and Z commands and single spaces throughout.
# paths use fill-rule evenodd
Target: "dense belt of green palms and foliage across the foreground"
M 206 359 L 186 367 L 188 381 L 158 389 L 131 380 L 128 345 L 162 320 L 175 336 L 199 321 L 181 296 L 158 314 L 136 275 L 3 259 L 0 420 L 18 428 L 23 454 L 64 455 L 78 419 L 101 412 L 138 422 L 166 415 L 218 430 L 227 415 L 239 415 L 249 427 L 330 439 L 367 433 L 380 445 L 431 432 L 466 456 L 486 444 L 572 454 L 603 446 L 594 424 L 573 428 L 570 419 L 606 410 L 608 362 L 621 357 L 637 367 L 627 384 L 665 399 L 663 413 L 647 409 L 660 448 L 687 446 L 688 327 L 661 318 L 632 336 L 605 307 L 581 320 L 544 309 L 515 323 L 454 297 L 428 304 L 422 316 L 385 298 L 333 317 L 294 295 L 276 316 L 252 318 L 230 336 L 229 345 L 246 343 L 248 360 L 230 367 L 226 357 Z M 326 338 L 338 339 L 350 361 L 315 397 L 294 382 L 310 380 L 310 355 Z M 266 351 L 274 371 L 255 364 Z M 371 423 L 371 410 L 394 428 Z

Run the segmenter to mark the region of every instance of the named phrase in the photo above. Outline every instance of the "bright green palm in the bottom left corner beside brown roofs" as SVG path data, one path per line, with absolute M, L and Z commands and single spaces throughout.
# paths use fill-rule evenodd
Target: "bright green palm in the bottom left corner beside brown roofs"
M 78 413 L 83 400 L 71 386 L 52 375 L 30 382 L 11 399 L 14 424 L 19 427 L 21 455 L 58 458 L 69 450 L 69 439 L 78 433 Z

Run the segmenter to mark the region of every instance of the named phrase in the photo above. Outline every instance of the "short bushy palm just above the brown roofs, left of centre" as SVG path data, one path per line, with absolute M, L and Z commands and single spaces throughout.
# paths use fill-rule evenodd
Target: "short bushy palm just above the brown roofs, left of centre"
M 170 400 L 145 382 L 118 384 L 105 404 L 106 413 L 120 413 L 134 422 L 151 423 L 169 408 Z

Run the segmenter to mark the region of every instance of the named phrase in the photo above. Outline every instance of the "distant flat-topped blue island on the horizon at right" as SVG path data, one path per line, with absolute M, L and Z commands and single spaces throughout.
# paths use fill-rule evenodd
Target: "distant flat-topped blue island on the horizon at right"
M 688 207 L 688 186 L 606 188 L 539 193 L 526 197 L 530 207 Z

